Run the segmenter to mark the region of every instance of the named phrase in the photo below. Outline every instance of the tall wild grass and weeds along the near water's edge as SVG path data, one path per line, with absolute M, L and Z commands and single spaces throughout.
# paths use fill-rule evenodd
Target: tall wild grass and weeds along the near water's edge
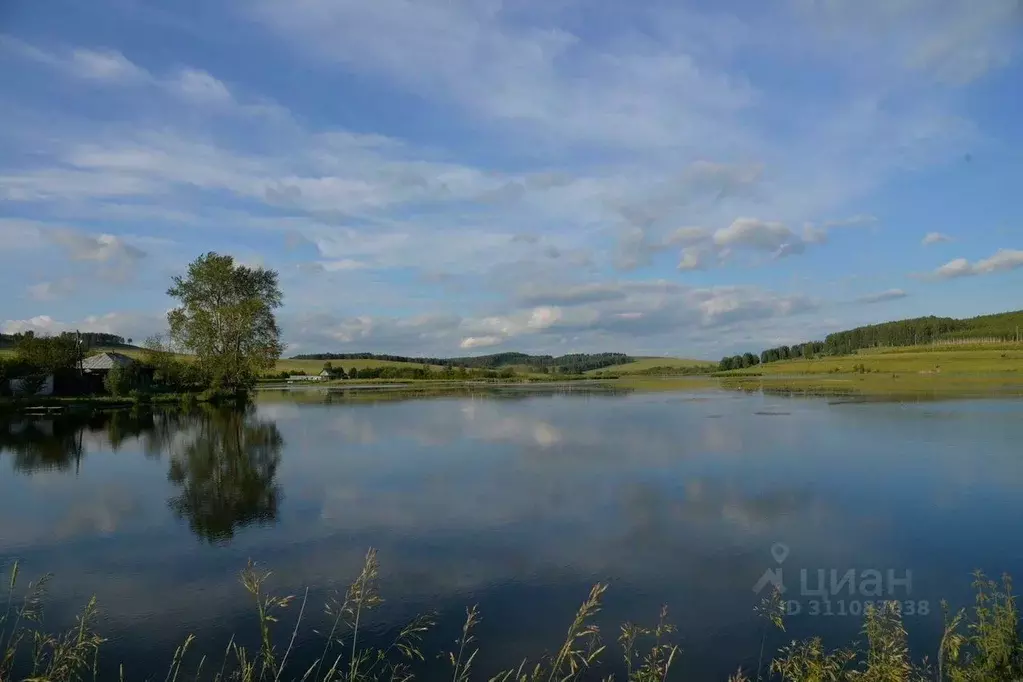
M 201 658 L 186 667 L 185 660 L 194 637 L 188 635 L 174 652 L 168 670 L 159 676 L 165 682 L 212 680 L 214 682 L 405 682 L 415 679 L 417 664 L 425 663 L 424 635 L 435 625 L 432 617 L 418 617 L 405 625 L 385 645 L 366 645 L 362 634 L 365 619 L 383 603 L 377 591 L 376 554 L 369 550 L 362 571 L 344 593 L 331 594 L 324 604 L 329 629 L 322 650 L 308 667 L 291 661 L 296 638 L 306 615 L 309 592 L 296 596 L 275 596 L 266 588 L 270 573 L 258 571 L 250 562 L 241 572 L 241 584 L 252 596 L 259 616 L 259 646 L 249 650 L 232 638 L 218 662 Z M 62 682 L 98 679 L 98 656 L 103 639 L 95 632 L 95 599 L 77 618 L 74 628 L 51 635 L 43 629 L 43 599 L 49 577 L 30 583 L 24 594 L 17 590 L 18 565 L 7 581 L 6 608 L 0 617 L 0 682 Z M 728 682 L 785 680 L 791 682 L 1009 682 L 1023 680 L 1023 642 L 1019 636 L 1019 612 L 1012 583 L 1000 583 L 975 574 L 976 601 L 972 608 L 951 612 L 942 602 L 944 631 L 936 644 L 936 658 L 916 662 L 906 644 L 906 630 L 898 603 L 870 608 L 861 634 L 864 641 L 830 650 L 819 637 L 792 641 L 780 648 L 765 665 L 762 640 L 757 670 L 738 670 Z M 604 665 L 609 653 L 594 624 L 607 585 L 597 584 L 579 606 L 562 644 L 550 653 L 523 661 L 514 669 L 489 678 L 491 682 L 571 682 L 582 679 L 613 680 Z M 293 628 L 278 632 L 278 616 L 298 605 Z M 765 626 L 785 631 L 781 596 L 772 594 L 757 607 Z M 474 631 L 480 623 L 477 606 L 465 611 L 459 636 L 452 650 L 444 654 L 451 682 L 478 679 L 474 663 L 480 651 Z M 630 682 L 660 682 L 682 679 L 678 665 L 681 649 L 672 641 L 675 627 L 668 622 L 667 608 L 657 625 L 644 628 L 626 623 L 617 637 L 620 669 Z M 16 675 L 16 677 L 15 677 Z M 436 674 L 431 677 L 436 678 Z M 121 680 L 124 680 L 123 669 Z

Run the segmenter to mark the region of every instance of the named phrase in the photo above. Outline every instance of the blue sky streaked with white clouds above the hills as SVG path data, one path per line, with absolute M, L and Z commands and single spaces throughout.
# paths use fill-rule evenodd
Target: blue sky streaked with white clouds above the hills
M 7 0 L 0 329 L 720 357 L 1020 308 L 1018 0 Z

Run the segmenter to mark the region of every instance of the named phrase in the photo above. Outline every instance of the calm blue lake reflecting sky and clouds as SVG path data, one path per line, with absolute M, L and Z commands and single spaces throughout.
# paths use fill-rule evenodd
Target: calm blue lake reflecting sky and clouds
M 53 628 L 96 595 L 104 670 L 123 662 L 129 679 L 162 677 L 188 633 L 192 665 L 232 634 L 253 645 L 238 581 L 250 558 L 273 571 L 275 592 L 309 588 L 295 653 L 308 662 L 326 594 L 376 548 L 385 603 L 371 636 L 436 611 L 428 676 L 468 605 L 482 616 L 477 672 L 492 673 L 557 646 L 603 581 L 607 639 L 666 603 L 687 679 L 755 669 L 762 579 L 796 603 L 769 652 L 815 633 L 845 644 L 860 627 L 853 602 L 891 596 L 915 604 L 910 642 L 933 658 L 940 598 L 966 603 L 975 569 L 1023 576 L 1023 401 L 327 395 L 0 422 L 0 562 L 54 574 Z M 855 577 L 837 586 L 855 594 L 828 596 L 830 616 L 818 571 Z M 863 596 L 874 571 L 884 593 Z

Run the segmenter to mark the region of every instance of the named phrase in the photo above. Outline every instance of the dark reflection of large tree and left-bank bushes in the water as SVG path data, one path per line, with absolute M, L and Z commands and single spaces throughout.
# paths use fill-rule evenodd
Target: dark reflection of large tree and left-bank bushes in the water
M 147 458 L 169 455 L 168 504 L 204 540 L 226 542 L 251 524 L 277 518 L 277 466 L 284 441 L 250 408 L 71 412 L 0 421 L 0 455 L 15 472 L 75 474 L 90 446 L 119 452 L 137 444 Z

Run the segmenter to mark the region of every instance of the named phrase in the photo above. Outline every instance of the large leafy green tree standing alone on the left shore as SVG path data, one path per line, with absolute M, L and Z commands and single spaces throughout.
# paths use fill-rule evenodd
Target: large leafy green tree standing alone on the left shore
M 171 337 L 195 355 L 214 387 L 241 389 L 280 357 L 281 305 L 277 273 L 235 265 L 230 256 L 209 253 L 176 276 L 168 294 L 180 305 L 167 314 Z

